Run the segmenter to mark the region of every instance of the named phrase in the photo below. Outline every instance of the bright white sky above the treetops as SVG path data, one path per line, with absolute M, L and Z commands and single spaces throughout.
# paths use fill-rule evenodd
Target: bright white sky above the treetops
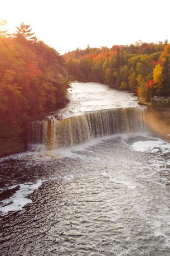
M 170 41 L 169 0 L 0 0 L 14 32 L 31 25 L 38 39 L 64 54 L 76 48 Z

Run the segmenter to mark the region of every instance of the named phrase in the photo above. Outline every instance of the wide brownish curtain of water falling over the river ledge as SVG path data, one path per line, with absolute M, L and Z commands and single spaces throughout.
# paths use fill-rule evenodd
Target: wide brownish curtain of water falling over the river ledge
M 145 107 L 91 111 L 56 120 L 54 117 L 28 124 L 28 148 L 43 144 L 48 150 L 72 147 L 111 134 L 145 130 Z

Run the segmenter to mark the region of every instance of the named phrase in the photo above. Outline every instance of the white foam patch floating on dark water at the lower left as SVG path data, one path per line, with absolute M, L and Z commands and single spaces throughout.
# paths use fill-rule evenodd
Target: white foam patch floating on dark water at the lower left
M 12 211 L 21 211 L 24 206 L 28 203 L 32 203 L 31 199 L 28 199 L 28 194 L 32 194 L 34 190 L 38 189 L 42 185 L 42 180 L 38 180 L 37 183 L 26 183 L 26 184 L 17 184 L 8 189 L 13 189 L 20 187 L 12 197 L 4 199 L 1 201 L 0 212 L 3 215 L 6 215 L 8 212 Z

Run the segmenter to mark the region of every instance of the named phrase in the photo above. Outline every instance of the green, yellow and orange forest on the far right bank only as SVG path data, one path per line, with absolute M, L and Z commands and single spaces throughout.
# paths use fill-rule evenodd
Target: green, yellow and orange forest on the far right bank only
M 137 41 L 66 53 L 72 80 L 105 83 L 114 89 L 132 91 L 146 102 L 153 96 L 170 96 L 170 44 Z

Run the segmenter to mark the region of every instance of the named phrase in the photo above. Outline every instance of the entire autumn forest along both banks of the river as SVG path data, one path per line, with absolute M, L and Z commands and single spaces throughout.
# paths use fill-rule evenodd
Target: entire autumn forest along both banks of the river
M 144 101 L 170 96 L 170 44 L 77 48 L 60 55 L 23 22 L 14 34 L 0 22 L 0 138 L 26 134 L 26 123 L 67 103 L 69 80 L 101 82 Z

